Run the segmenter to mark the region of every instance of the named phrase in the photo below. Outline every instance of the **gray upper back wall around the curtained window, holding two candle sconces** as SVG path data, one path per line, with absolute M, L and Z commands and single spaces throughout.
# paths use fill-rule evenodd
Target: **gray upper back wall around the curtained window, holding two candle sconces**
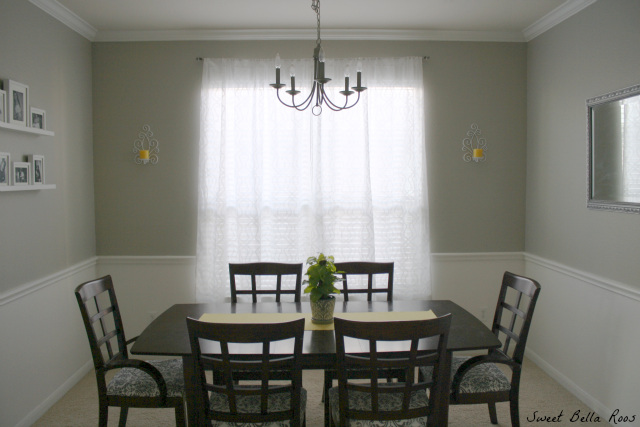
M 432 252 L 524 250 L 526 44 L 323 46 L 333 57 L 431 58 L 424 75 Z M 98 255 L 195 255 L 202 76 L 196 57 L 304 58 L 313 47 L 313 41 L 94 43 Z M 462 158 L 472 123 L 487 139 L 485 163 Z M 157 165 L 133 162 L 144 125 L 160 144 Z

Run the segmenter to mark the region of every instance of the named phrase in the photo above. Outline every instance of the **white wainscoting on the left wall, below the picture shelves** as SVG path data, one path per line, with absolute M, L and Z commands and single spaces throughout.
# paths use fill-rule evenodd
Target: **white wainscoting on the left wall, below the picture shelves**
M 0 426 L 30 426 L 93 367 L 73 291 L 96 261 L 0 295 Z

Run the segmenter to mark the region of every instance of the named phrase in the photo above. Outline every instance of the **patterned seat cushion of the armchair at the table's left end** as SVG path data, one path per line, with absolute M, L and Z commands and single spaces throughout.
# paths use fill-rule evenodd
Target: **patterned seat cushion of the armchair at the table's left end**
M 182 360 L 147 360 L 160 371 L 167 383 L 167 397 L 184 395 Z M 136 368 L 122 368 L 107 385 L 112 396 L 159 397 L 158 385 L 146 372 Z

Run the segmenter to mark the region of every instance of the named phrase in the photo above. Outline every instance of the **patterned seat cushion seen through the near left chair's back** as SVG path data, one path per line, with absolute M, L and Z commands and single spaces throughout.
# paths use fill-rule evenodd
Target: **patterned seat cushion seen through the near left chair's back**
M 255 386 L 259 388 L 260 386 Z M 211 409 L 218 412 L 229 412 L 229 398 L 222 393 L 211 393 Z M 236 406 L 238 412 L 243 414 L 260 413 L 260 396 L 236 396 Z M 300 390 L 300 425 L 305 418 L 305 410 L 307 408 L 307 390 L 304 388 Z M 272 394 L 267 400 L 268 412 L 287 411 L 291 409 L 291 393 L 278 393 Z M 238 426 L 252 426 L 252 427 L 289 427 L 289 420 L 274 421 L 268 423 L 258 424 L 243 424 L 243 423 L 229 423 L 226 421 L 213 420 L 211 422 L 212 427 L 238 427 Z

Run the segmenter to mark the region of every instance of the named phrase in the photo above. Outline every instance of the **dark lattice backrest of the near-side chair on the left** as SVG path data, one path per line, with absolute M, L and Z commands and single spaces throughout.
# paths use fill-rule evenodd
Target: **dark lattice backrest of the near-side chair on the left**
M 230 324 L 200 322 L 187 318 L 187 329 L 189 330 L 191 352 L 196 364 L 197 392 L 205 407 L 207 419 L 234 423 L 290 420 L 291 427 L 300 426 L 302 390 L 300 357 L 304 337 L 304 319 L 284 323 Z M 294 340 L 292 349 L 289 347 L 279 348 L 277 354 L 270 353 L 272 343 L 287 339 Z M 234 354 L 230 351 L 229 344 L 233 343 L 261 344 L 262 353 L 252 355 L 253 357 L 248 360 L 246 354 Z M 291 351 L 283 351 L 289 349 Z M 217 371 L 220 381 L 207 382 L 206 370 Z M 270 377 L 274 370 L 290 372 L 291 380 L 283 381 L 282 376 L 279 375 L 277 384 L 270 383 Z M 259 372 L 260 386 L 239 385 L 234 381 L 234 371 Z M 210 393 L 220 393 L 226 396 L 229 412 L 212 409 L 208 404 Z M 269 397 L 281 393 L 291 393 L 289 409 L 268 412 Z M 247 413 L 246 408 L 244 410 L 239 408 L 238 401 L 243 396 L 259 396 L 260 412 Z

